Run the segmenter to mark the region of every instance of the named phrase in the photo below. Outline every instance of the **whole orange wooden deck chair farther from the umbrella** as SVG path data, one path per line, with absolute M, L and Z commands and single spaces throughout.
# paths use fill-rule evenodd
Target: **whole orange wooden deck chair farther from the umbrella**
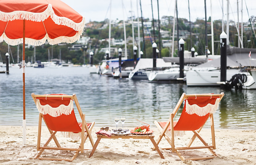
M 160 136 L 156 141 L 156 144 L 159 145 L 162 137 L 165 137 L 165 139 L 171 145 L 171 148 L 162 148 L 162 149 L 167 149 L 167 150 L 171 150 L 171 152 L 175 152 L 182 161 L 213 159 L 215 156 L 217 156 L 213 151 L 213 149 L 216 149 L 213 113 L 219 107 L 219 102 L 223 98 L 223 96 L 224 96 L 223 92 L 221 92 L 220 94 L 190 94 L 190 95 L 186 95 L 186 93 L 183 93 L 176 107 L 174 108 L 173 112 L 170 113 L 170 118 L 168 119 L 168 121 L 154 122 L 157 128 L 161 131 Z M 173 118 L 177 113 L 179 107 L 182 105 L 184 99 L 185 99 L 185 103 L 184 103 L 183 111 L 179 117 L 179 120 L 177 122 L 174 122 Z M 207 144 L 207 142 L 199 134 L 209 118 L 211 120 L 211 139 L 212 139 L 211 145 Z M 193 137 L 188 142 L 187 147 L 176 147 L 174 137 L 184 135 L 185 131 L 192 131 L 194 133 Z M 196 137 L 198 137 L 199 140 L 203 143 L 203 146 L 191 147 L 191 144 L 194 142 Z M 196 158 L 192 157 L 192 158 L 185 159 L 185 157 L 182 156 L 180 152 L 180 150 L 202 149 L 202 148 L 208 148 L 213 156 L 196 157 Z

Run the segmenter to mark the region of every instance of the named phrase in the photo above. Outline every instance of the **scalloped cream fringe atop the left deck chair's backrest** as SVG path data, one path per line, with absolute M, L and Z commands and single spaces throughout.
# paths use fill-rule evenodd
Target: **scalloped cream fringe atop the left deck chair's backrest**
M 70 100 L 68 106 L 61 104 L 59 107 L 53 108 L 50 105 L 41 105 L 39 99 L 37 100 L 37 109 L 41 114 L 49 114 L 50 116 L 57 117 L 61 114 L 69 115 L 73 110 L 73 100 Z

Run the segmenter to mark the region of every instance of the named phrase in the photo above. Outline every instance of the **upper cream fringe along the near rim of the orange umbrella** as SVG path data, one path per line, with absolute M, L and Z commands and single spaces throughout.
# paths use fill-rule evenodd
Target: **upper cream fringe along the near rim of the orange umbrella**
M 10 13 L 5 13 L 0 11 L 0 20 L 1 21 L 13 21 L 13 20 L 30 20 L 30 21 L 45 21 L 48 17 L 51 17 L 52 20 L 58 25 L 65 25 L 74 29 L 75 31 L 79 31 L 79 34 L 83 33 L 83 29 L 85 26 L 85 18 L 82 17 L 81 22 L 74 22 L 66 17 L 59 17 L 54 13 L 53 7 L 51 4 L 48 4 L 48 7 L 45 11 L 41 13 L 32 13 L 27 11 L 13 11 Z

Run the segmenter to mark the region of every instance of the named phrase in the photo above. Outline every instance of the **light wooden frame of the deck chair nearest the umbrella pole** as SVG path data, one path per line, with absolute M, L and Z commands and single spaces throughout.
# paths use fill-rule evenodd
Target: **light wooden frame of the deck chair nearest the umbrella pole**
M 37 155 L 34 157 L 34 159 L 48 159 L 48 160 L 65 160 L 65 161 L 69 161 L 72 162 L 74 159 L 76 159 L 77 155 L 79 152 L 83 153 L 84 150 L 91 150 L 91 149 L 84 149 L 84 143 L 86 141 L 87 138 L 89 138 L 92 147 L 94 146 L 94 142 L 93 142 L 93 138 L 91 135 L 91 131 L 93 129 L 93 126 L 95 124 L 95 122 L 92 123 L 86 123 L 85 121 L 85 114 L 82 113 L 81 107 L 78 103 L 77 100 L 77 96 L 76 94 L 73 95 L 35 95 L 34 93 L 31 94 L 35 104 L 37 104 L 37 97 L 62 97 L 62 98 L 70 98 L 72 100 L 74 100 L 77 110 L 80 114 L 80 117 L 82 119 L 82 128 L 81 130 L 86 130 L 85 131 L 81 131 L 81 144 L 78 148 L 62 148 L 55 136 L 55 134 L 57 133 L 57 131 L 53 131 L 51 130 L 46 122 L 45 122 L 45 118 L 44 115 L 42 113 L 39 113 L 39 122 L 38 122 L 38 137 L 37 137 Z M 42 127 L 42 119 L 44 120 L 49 132 L 50 132 L 50 137 L 48 138 L 48 140 L 45 142 L 45 144 L 43 146 L 40 145 L 41 143 L 41 127 Z M 87 124 L 91 124 L 89 127 Z M 53 139 L 53 141 L 55 142 L 55 144 L 57 145 L 57 147 L 47 147 L 47 145 L 50 143 L 50 141 Z M 67 151 L 76 151 L 75 154 L 73 155 L 73 157 L 71 159 L 59 159 L 59 158 L 45 158 L 45 157 L 40 157 L 40 155 L 42 154 L 42 152 L 45 149 L 52 149 L 52 150 L 67 150 Z

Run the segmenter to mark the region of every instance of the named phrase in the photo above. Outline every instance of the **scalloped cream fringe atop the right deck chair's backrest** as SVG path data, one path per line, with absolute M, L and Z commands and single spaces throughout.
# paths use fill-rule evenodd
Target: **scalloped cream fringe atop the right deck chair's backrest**
M 216 99 L 215 104 L 208 103 L 204 107 L 199 107 L 196 104 L 190 105 L 186 101 L 186 112 L 187 114 L 197 114 L 198 116 L 205 116 L 208 113 L 215 113 L 219 107 L 219 98 Z

